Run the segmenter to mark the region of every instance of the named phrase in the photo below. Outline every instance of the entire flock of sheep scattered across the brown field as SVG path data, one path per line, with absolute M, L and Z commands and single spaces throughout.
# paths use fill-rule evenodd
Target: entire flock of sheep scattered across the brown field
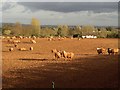
M 35 36 L 33 36 L 33 37 L 22 37 L 22 36 L 15 37 L 14 36 L 14 37 L 11 37 L 11 38 L 7 37 L 7 40 L 8 40 L 7 42 L 14 45 L 14 47 L 9 48 L 8 50 L 9 51 L 13 51 L 14 48 L 17 48 L 19 51 L 28 51 L 28 50 L 32 51 L 33 47 L 29 47 L 29 49 L 27 49 L 25 47 L 18 48 L 19 43 L 21 42 L 20 40 L 23 39 L 23 38 L 30 38 L 30 43 L 35 44 L 36 43 L 35 39 L 37 37 L 35 37 Z M 58 39 L 53 38 L 53 37 L 47 38 L 48 41 L 51 41 L 51 40 L 63 40 L 63 39 L 65 39 L 65 38 L 58 38 Z M 70 38 L 70 39 L 73 39 L 73 38 Z M 78 39 L 78 40 L 80 40 L 80 39 Z M 65 60 L 72 60 L 74 55 L 75 55 L 73 52 L 66 52 L 64 50 L 52 49 L 51 51 L 52 51 L 52 53 L 54 53 L 54 57 L 57 60 L 61 59 L 61 58 L 65 59 Z M 110 54 L 118 54 L 119 53 L 119 49 L 114 49 L 114 48 L 108 48 L 108 49 L 97 48 L 97 53 L 98 54 L 106 54 L 106 53 L 108 53 L 109 55 Z

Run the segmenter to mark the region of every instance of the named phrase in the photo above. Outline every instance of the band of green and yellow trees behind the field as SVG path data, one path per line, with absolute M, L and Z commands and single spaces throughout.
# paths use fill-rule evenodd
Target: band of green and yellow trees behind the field
M 36 18 L 32 18 L 31 25 L 23 25 L 20 22 L 15 24 L 4 24 L 0 28 L 2 35 L 15 36 L 39 36 L 39 37 L 82 37 L 83 35 L 94 35 L 98 38 L 120 38 L 120 31 L 114 27 L 99 27 L 91 25 L 74 26 L 58 25 L 57 27 L 41 27 Z

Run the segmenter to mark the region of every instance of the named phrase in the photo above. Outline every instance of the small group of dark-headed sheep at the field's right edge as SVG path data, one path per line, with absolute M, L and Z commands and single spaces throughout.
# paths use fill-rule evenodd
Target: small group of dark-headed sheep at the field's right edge
M 113 54 L 118 54 L 119 53 L 119 49 L 118 48 L 108 48 L 108 49 L 105 49 L 105 48 L 97 48 L 97 53 L 98 54 L 106 54 L 108 53 L 109 55 Z

